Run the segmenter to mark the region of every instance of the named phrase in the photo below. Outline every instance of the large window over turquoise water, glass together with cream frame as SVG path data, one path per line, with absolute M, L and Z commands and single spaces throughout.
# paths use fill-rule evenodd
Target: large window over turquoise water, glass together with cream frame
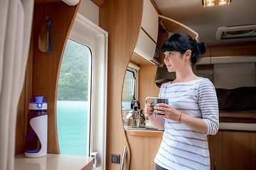
M 71 50 L 68 50 L 68 48 Z M 75 51 L 78 51 L 78 53 Z M 77 55 L 80 57 L 75 57 Z M 80 60 L 78 60 L 79 58 Z M 68 62 L 67 66 L 65 66 L 66 62 Z M 75 71 L 75 69 L 78 70 Z M 71 75 L 73 78 L 68 79 Z M 86 76 L 87 78 L 85 78 Z M 98 152 L 97 168 L 105 169 L 107 32 L 87 20 L 80 13 L 77 14 L 70 31 L 59 78 L 57 128 L 60 154 L 90 156 L 91 152 Z M 69 87 L 63 83 L 64 80 L 70 84 Z M 64 95 L 65 98 L 62 98 Z M 69 104 L 65 101 L 68 101 Z M 100 105 L 97 103 L 100 103 Z M 67 111 L 69 107 L 72 108 Z M 59 115 L 61 111 L 68 112 L 67 115 L 70 116 L 63 118 L 62 122 L 60 121 L 61 115 Z M 70 121 L 70 119 L 75 120 Z M 64 127 L 60 123 L 66 123 L 67 126 Z M 80 137 L 78 143 L 70 137 L 65 139 L 62 136 L 69 134 L 68 131 L 71 131 L 71 128 L 73 129 L 72 135 Z M 63 143 L 65 143 L 65 150 L 61 148 Z M 80 145 L 79 152 L 75 152 L 77 146 L 74 145 Z

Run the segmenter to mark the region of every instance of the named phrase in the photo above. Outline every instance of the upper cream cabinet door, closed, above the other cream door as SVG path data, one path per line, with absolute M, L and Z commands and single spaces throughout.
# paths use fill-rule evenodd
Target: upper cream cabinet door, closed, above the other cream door
M 146 30 L 146 33 L 149 34 L 154 42 L 157 42 L 159 17 L 150 0 L 144 0 L 143 3 L 142 28 Z

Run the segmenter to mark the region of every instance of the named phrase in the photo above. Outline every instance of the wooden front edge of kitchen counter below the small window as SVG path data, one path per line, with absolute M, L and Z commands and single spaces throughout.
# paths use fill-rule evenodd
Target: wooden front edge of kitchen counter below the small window
M 125 130 L 126 135 L 130 136 L 147 136 L 147 137 L 162 137 L 163 131 L 149 131 L 149 130 Z

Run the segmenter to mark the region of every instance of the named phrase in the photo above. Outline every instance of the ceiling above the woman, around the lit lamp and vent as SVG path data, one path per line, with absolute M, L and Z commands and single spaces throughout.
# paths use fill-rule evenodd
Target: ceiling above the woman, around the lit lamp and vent
M 201 42 L 222 43 L 256 40 L 216 40 L 218 27 L 256 24 L 256 0 L 232 0 L 229 5 L 203 7 L 202 0 L 154 0 L 163 16 L 195 30 Z

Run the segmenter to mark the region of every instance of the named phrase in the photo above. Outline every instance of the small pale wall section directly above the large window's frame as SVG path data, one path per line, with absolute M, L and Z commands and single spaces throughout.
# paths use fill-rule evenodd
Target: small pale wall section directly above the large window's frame
M 82 0 L 78 13 L 99 26 L 99 7 L 90 0 Z

